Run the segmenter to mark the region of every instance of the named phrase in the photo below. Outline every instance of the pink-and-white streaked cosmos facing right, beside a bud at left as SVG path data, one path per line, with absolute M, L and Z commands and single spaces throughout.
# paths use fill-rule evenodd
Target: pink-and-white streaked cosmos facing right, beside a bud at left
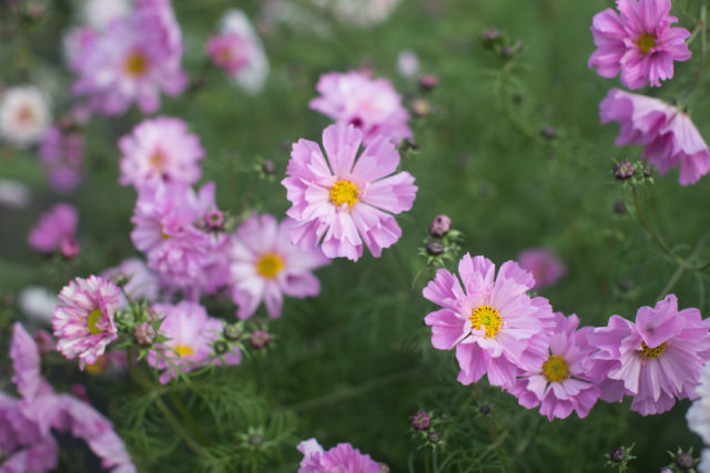
M 97 276 L 75 278 L 59 292 L 52 320 L 57 349 L 70 360 L 79 357 L 81 370 L 95 363 L 119 337 L 113 315 L 120 295 L 116 285 Z

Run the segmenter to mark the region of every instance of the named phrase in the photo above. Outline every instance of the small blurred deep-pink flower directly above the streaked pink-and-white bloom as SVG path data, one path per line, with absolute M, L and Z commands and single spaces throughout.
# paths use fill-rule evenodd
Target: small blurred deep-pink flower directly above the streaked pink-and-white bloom
M 57 204 L 43 214 L 28 235 L 28 244 L 42 253 L 60 250 L 71 258 L 79 253 L 77 243 L 77 225 L 79 214 L 69 204 Z

